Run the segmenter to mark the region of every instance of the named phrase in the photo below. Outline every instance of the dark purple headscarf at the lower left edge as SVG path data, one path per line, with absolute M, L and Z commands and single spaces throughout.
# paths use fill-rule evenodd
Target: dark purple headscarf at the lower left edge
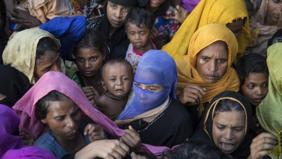
M 0 104 L 0 158 L 10 149 L 24 147 L 21 136 L 12 135 L 19 123 L 20 119 L 12 109 Z

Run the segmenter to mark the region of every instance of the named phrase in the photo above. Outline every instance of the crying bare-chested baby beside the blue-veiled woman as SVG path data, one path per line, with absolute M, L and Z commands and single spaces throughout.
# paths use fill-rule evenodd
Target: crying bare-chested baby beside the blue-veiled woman
M 123 111 L 133 82 L 133 69 L 124 59 L 112 59 L 101 69 L 105 93 L 95 99 L 99 110 L 115 120 Z

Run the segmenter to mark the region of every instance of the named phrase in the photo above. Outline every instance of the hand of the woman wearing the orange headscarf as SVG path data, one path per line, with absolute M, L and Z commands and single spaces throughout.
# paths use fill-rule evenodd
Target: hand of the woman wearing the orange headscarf
M 195 84 L 187 84 L 183 88 L 183 90 L 178 95 L 178 100 L 183 105 L 196 105 L 200 104 L 201 100 L 204 99 L 205 95 L 205 88 L 201 88 L 198 85 Z

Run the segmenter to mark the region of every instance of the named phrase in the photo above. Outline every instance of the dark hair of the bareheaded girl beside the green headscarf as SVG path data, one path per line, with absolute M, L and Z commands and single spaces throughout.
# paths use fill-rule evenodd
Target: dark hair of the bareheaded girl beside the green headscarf
M 244 85 L 250 73 L 265 73 L 268 75 L 266 58 L 260 54 L 247 54 L 238 60 L 236 72 L 240 79 L 240 86 Z

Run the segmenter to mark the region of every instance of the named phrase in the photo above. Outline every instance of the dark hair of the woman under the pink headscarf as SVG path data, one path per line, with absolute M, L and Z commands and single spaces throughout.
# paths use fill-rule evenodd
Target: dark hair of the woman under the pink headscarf
M 48 107 L 50 106 L 49 102 L 52 101 L 62 101 L 65 99 L 70 99 L 68 96 L 53 90 L 49 92 L 44 97 L 40 98 L 35 104 L 35 117 L 38 120 L 45 119 L 48 114 Z

